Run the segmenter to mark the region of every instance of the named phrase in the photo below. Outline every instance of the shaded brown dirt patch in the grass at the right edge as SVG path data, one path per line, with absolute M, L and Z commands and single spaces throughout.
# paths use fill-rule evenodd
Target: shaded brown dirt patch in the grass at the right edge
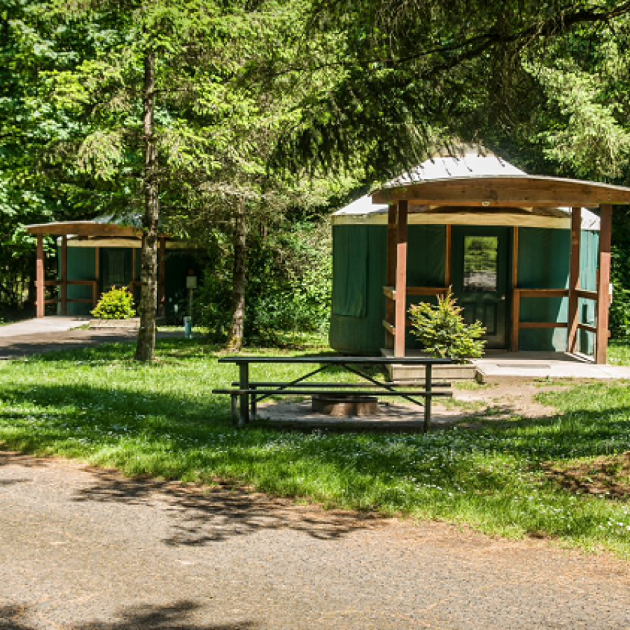
M 570 465 L 547 463 L 549 479 L 572 492 L 610 498 L 630 498 L 630 451 Z

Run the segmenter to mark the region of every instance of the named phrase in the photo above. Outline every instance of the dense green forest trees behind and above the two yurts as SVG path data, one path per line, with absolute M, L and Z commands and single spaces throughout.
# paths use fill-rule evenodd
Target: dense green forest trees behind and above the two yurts
M 330 213 L 435 151 L 629 186 L 629 35 L 611 0 L 3 0 L 0 317 L 33 310 L 23 225 L 141 216 L 204 251 L 217 340 L 323 331 Z M 628 209 L 613 247 L 629 337 Z

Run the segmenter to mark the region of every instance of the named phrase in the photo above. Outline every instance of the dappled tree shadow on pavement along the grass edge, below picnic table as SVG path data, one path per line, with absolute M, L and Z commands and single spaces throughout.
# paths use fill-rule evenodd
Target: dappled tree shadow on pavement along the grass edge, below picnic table
M 170 532 L 163 542 L 174 547 L 207 545 L 272 529 L 291 529 L 320 540 L 337 540 L 384 521 L 373 514 L 307 508 L 295 505 L 291 499 L 228 485 L 201 489 L 154 479 L 127 479 L 116 472 L 91 472 L 96 483 L 78 491 L 75 500 L 146 505 L 152 510 L 160 503 L 170 521 Z

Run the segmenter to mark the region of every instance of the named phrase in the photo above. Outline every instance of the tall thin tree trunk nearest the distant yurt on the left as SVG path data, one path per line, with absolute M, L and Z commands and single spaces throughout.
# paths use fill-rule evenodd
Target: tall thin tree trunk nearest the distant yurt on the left
M 153 360 L 155 309 L 158 305 L 158 146 L 155 138 L 155 52 L 144 58 L 144 216 L 142 218 L 142 270 L 140 330 L 136 359 Z

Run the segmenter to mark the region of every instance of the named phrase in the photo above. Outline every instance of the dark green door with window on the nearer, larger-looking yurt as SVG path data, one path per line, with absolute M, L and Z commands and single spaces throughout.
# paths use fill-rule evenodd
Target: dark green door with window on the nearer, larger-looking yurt
M 452 231 L 453 293 L 465 321 L 486 328 L 486 347 L 507 346 L 508 237 L 510 228 L 454 226 Z

